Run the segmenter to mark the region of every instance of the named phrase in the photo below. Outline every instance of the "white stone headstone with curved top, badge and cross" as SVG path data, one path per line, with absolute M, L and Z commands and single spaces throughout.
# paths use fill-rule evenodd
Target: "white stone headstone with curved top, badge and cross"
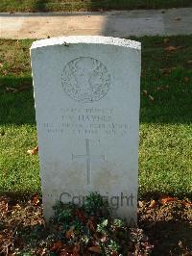
M 99 192 L 136 221 L 140 43 L 63 37 L 31 47 L 45 218 Z

